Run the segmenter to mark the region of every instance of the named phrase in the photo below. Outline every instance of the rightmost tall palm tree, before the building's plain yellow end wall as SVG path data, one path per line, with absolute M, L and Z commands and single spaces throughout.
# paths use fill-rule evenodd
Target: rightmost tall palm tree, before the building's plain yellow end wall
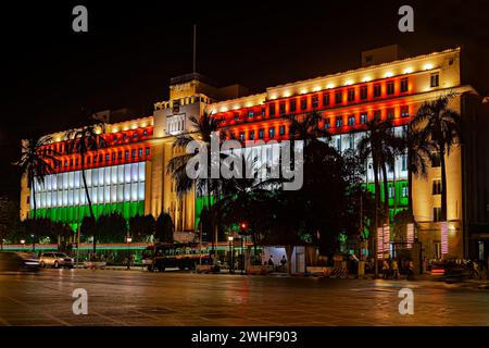
M 454 95 L 439 97 L 434 101 L 424 102 L 414 120 L 413 127 L 419 129 L 422 141 L 432 146 L 440 160 L 441 166 L 441 213 L 440 221 L 447 221 L 447 167 L 444 156 L 462 138 L 461 116 L 449 109 L 448 104 Z

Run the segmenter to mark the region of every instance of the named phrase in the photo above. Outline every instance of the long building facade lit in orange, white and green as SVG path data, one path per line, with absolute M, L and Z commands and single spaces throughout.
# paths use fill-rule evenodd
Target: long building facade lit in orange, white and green
M 369 55 L 372 61 L 378 62 Z M 202 198 L 196 197 L 195 192 L 177 197 L 167 164 L 178 154 L 172 146 L 175 136 L 195 132 L 190 117 L 199 117 L 204 111 L 221 121 L 221 127 L 228 137 L 265 142 L 288 139 L 290 115 L 317 111 L 322 115 L 319 127 L 329 130 L 333 146 L 340 151 L 354 149 L 365 132 L 365 123 L 374 117 L 391 120 L 394 132 L 402 134 L 423 102 L 448 92 L 456 94 L 450 108 L 461 113 L 463 120 L 477 119 L 477 122 L 487 124 L 488 117 L 484 113 L 487 112 L 487 103 L 484 104 L 477 91 L 463 82 L 459 48 L 363 65 L 366 66 L 269 87 L 256 95 L 249 95 L 239 85 L 216 88 L 199 74 L 172 79 L 170 99 L 156 102 L 153 115 L 120 123 L 104 119 L 105 126 L 101 132 L 109 146 L 89 153 L 86 171 L 97 214 L 118 211 L 125 217 L 143 213 L 158 216 L 167 211 L 178 233 L 193 233 Z M 472 123 L 464 127 L 464 132 L 479 136 Z M 480 253 L 480 250 L 487 258 L 489 207 L 486 210 L 481 208 L 489 203 L 487 183 L 484 186 L 487 163 L 485 172 L 475 174 L 479 162 L 484 162 L 480 157 L 487 154 L 487 150 L 484 152 L 487 139 L 477 139 L 475 142 L 472 137 L 464 146 L 455 146 L 446 159 L 448 251 L 441 246 L 440 167 L 430 167 L 427 178 L 413 178 L 417 237 L 427 258 L 462 258 Z M 76 156 L 63 153 L 65 141 L 62 133 L 54 134 L 49 146 L 62 153 L 61 166 L 57 167 L 55 174 L 45 178 L 45 185 L 36 187 L 38 215 L 70 223 L 76 229 L 83 216 L 87 215 L 80 161 Z M 258 145 L 255 150 L 268 151 L 263 145 Z M 365 182 L 373 185 L 373 171 L 368 164 Z M 396 160 L 387 176 L 393 215 L 408 207 L 405 156 Z M 474 192 L 477 192 L 476 202 L 467 196 Z M 23 178 L 23 219 L 33 208 L 28 197 L 29 189 Z

